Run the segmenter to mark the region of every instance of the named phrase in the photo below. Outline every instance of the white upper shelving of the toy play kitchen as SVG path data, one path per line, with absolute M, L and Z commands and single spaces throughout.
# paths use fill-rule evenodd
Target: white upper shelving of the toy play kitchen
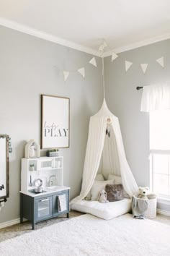
M 32 165 L 35 171 L 31 171 Z M 55 176 L 54 186 L 63 186 L 63 156 L 22 158 L 21 192 L 34 189 L 36 179 L 42 179 L 43 188 L 50 187 L 50 176 Z

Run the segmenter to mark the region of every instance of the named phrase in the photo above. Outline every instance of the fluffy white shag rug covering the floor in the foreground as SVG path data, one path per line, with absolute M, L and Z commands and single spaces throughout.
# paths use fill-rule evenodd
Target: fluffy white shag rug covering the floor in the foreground
M 0 243 L 3 256 L 166 256 L 170 228 L 130 214 L 104 221 L 89 214 Z

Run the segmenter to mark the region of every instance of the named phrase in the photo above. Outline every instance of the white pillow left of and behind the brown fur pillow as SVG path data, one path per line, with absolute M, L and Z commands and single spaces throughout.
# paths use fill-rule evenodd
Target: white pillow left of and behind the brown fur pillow
M 99 192 L 105 189 L 106 184 L 114 184 L 115 179 L 110 179 L 109 181 L 94 181 L 91 187 L 91 201 L 97 201 L 99 197 Z

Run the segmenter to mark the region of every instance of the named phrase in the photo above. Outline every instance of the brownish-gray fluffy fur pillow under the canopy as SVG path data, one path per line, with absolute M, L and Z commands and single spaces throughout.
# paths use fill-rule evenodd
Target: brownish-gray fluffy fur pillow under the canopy
M 105 190 L 107 192 L 107 200 L 109 202 L 115 202 L 123 200 L 123 187 L 122 184 L 117 185 L 110 185 L 107 184 L 105 187 Z

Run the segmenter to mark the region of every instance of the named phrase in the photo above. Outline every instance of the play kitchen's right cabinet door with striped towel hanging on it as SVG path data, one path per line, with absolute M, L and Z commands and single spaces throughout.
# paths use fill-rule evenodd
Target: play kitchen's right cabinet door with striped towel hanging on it
M 53 216 L 68 213 L 68 190 L 53 195 Z

